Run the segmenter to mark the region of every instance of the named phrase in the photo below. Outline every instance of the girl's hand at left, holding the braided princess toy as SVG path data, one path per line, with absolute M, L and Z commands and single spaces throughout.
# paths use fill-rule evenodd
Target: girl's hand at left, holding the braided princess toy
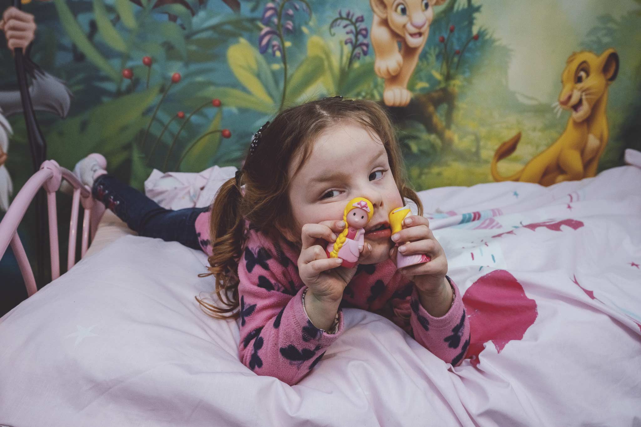
M 338 305 L 343 291 L 356 273 L 356 266 L 341 267 L 340 258 L 328 258 L 325 247 L 336 241 L 345 228 L 343 221 L 323 221 L 305 224 L 301 230 L 301 255 L 298 257 L 298 274 L 313 296 L 319 301 Z M 369 254 L 369 245 L 363 245 L 361 256 Z

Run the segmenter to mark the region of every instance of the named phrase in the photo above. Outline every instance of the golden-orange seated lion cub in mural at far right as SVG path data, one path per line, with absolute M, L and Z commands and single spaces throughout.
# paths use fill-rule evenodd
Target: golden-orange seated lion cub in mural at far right
M 607 49 L 601 56 L 589 51 L 572 53 L 561 75 L 563 88 L 558 100 L 558 105 L 570 112 L 565 131 L 512 176 L 499 175 L 497 163 L 514 152 L 520 132 L 503 142 L 492 159 L 494 180 L 547 186 L 595 176 L 599 158 L 608 144 L 605 108 L 608 87 L 617 78 L 617 72 L 619 55 L 614 49 Z

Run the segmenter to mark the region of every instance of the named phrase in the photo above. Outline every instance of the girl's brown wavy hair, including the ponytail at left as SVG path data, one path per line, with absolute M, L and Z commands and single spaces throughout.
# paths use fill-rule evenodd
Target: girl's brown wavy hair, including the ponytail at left
M 260 143 L 246 156 L 240 181 L 237 183 L 235 178 L 226 181 L 212 203 L 213 255 L 208 258 L 209 272 L 200 276 L 215 276 L 219 304 L 206 303 L 196 297 L 206 314 L 218 319 L 238 318 L 238 263 L 245 244 L 244 221 L 274 240 L 281 236 L 279 230 L 291 230 L 290 224 L 296 222 L 288 195 L 292 178 L 288 175 L 290 162 L 300 157 L 295 173 L 299 171 L 311 154 L 315 138 L 340 121 L 362 124 L 378 135 L 387 151 L 390 171 L 403 203 L 406 199 L 412 200 L 422 215 L 419 196 L 406 180 L 392 122 L 381 106 L 363 99 L 332 97 L 288 108 L 262 131 Z M 240 191 L 242 185 L 244 194 Z

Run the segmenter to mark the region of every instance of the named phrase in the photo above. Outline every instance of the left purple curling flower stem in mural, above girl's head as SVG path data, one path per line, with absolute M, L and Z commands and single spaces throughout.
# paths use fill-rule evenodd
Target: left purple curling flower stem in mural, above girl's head
M 302 6 L 296 3 L 297 1 L 300 2 Z M 285 99 L 287 98 L 287 44 L 285 43 L 283 31 L 290 34 L 296 31 L 293 21 L 294 9 L 288 8 L 285 10 L 285 4 L 288 3 L 292 3 L 292 6 L 294 6 L 296 10 L 302 8 L 303 12 L 307 12 L 310 15 L 310 19 L 312 18 L 312 8 L 310 8 L 306 0 L 285 0 L 279 4 L 278 8 L 274 3 L 267 3 L 263 9 L 263 16 L 261 18 L 261 22 L 266 27 L 263 28 L 262 31 L 260 31 L 260 35 L 258 35 L 258 49 L 260 53 L 263 54 L 267 52 L 267 49 L 271 46 L 272 55 L 280 56 L 283 60 L 283 96 L 281 97 L 279 111 L 283 109 Z M 287 14 L 287 22 L 285 22 L 285 25 L 283 25 L 283 12 Z M 274 37 L 278 37 L 280 42 L 278 40 L 272 40 Z

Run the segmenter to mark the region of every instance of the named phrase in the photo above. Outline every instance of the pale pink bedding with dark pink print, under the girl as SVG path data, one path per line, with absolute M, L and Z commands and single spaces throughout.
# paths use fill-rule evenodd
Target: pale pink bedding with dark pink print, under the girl
M 242 365 L 238 322 L 201 311 L 203 253 L 107 213 L 78 264 L 0 319 L 0 425 L 641 426 L 641 153 L 626 162 L 420 192 L 464 292 L 467 358 L 345 309 L 293 387 Z

